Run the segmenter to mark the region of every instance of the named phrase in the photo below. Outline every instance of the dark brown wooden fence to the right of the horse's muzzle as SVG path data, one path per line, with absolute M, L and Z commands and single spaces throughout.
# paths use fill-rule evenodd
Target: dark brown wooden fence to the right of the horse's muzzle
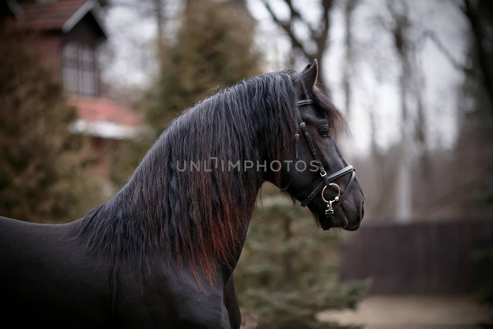
M 372 279 L 371 293 L 464 293 L 472 253 L 493 237 L 493 219 L 362 225 L 342 248 L 340 279 Z

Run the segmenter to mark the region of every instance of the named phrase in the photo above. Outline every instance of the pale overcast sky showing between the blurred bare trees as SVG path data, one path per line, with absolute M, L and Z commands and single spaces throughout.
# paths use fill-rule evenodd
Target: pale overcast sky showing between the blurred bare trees
M 317 1 L 294 1 L 302 15 L 311 22 L 317 22 L 320 9 Z M 339 1 L 340 2 L 340 1 Z M 287 17 L 288 8 L 282 0 L 271 1 L 280 18 Z M 408 1 L 409 15 L 414 24 L 413 33 L 424 30 L 434 31 L 444 46 L 458 61 L 464 59 L 467 23 L 458 8 L 451 1 Z M 303 4 L 303 5 L 299 5 Z M 179 10 L 173 7 L 171 10 Z M 266 72 L 286 68 L 289 39 L 277 27 L 260 0 L 248 0 L 248 9 L 257 19 L 256 47 L 266 58 Z M 369 111 L 373 110 L 378 126 L 378 145 L 386 148 L 400 139 L 400 101 L 397 89 L 398 62 L 393 50 L 390 33 L 375 23 L 376 15 L 385 15 L 384 0 L 362 1 L 354 12 L 354 59 L 352 114 L 348 118 L 352 139 L 343 143 L 346 152 L 367 153 L 369 149 Z M 124 87 L 145 88 L 152 81 L 155 62 L 152 56 L 152 42 L 155 37 L 155 23 L 135 7 L 111 7 L 106 15 L 109 45 L 113 48 L 111 61 L 105 65 L 103 79 L 111 84 Z M 344 67 L 344 21 L 342 8 L 332 11 L 330 47 L 324 63 L 325 80 L 329 85 L 334 103 L 341 108 L 345 104 L 342 89 L 342 68 Z M 176 24 L 170 27 L 173 31 Z M 299 29 L 303 37 L 303 29 Z M 426 131 L 430 147 L 453 145 L 458 126 L 457 88 L 463 76 L 445 59 L 437 47 L 423 41 L 418 60 L 423 68 L 423 99 L 426 110 Z M 307 63 L 297 63 L 302 69 Z M 410 109 L 414 113 L 413 109 Z M 352 145 L 351 148 L 344 147 Z

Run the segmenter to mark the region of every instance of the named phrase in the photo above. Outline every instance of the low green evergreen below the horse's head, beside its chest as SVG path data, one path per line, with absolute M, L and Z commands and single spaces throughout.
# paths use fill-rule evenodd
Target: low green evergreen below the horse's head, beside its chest
M 347 328 L 316 318 L 327 309 L 356 307 L 368 287 L 338 282 L 341 235 L 320 232 L 308 210 L 266 190 L 235 271 L 240 305 L 258 317 L 258 329 Z

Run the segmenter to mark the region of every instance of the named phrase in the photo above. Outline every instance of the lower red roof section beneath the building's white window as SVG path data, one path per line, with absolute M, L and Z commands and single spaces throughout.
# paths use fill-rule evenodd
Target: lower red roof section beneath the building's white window
M 110 121 L 125 126 L 143 126 L 144 117 L 108 98 L 72 97 L 70 105 L 77 108 L 79 119 L 87 122 Z

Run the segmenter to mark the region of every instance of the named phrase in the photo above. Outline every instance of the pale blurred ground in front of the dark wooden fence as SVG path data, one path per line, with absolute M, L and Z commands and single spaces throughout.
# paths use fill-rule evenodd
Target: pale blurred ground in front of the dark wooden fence
M 324 311 L 320 321 L 366 324 L 364 329 L 473 329 L 489 323 L 491 310 L 468 296 L 371 296 L 357 310 Z

